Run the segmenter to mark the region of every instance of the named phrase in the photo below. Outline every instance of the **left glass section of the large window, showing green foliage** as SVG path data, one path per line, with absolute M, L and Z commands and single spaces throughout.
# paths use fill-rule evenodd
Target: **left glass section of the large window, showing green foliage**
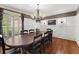
M 2 29 L 3 29 L 3 36 L 5 39 L 8 39 L 12 36 L 12 30 L 11 30 L 11 17 L 7 14 L 3 14 L 3 20 L 2 20 Z

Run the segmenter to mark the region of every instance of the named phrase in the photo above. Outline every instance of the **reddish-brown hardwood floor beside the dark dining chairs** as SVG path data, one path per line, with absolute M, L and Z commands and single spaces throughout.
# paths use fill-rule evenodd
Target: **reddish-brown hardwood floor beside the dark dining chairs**
M 44 48 L 47 54 L 79 54 L 79 47 L 75 41 L 54 37 L 52 44 Z M 1 47 L 0 47 L 1 53 Z

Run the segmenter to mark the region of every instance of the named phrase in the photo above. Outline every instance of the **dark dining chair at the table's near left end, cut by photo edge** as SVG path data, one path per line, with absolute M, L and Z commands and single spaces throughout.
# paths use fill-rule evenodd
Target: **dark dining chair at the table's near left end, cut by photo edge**
M 16 48 L 11 48 L 11 47 L 6 46 L 5 42 L 4 42 L 4 38 L 3 38 L 2 35 L 0 35 L 0 41 L 1 41 L 2 53 L 3 54 L 6 54 L 6 53 L 14 54 L 15 53 Z

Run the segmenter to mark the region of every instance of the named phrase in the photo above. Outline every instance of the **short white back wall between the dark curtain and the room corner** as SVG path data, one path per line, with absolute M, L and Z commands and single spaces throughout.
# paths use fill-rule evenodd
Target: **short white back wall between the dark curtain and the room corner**
M 40 23 L 36 23 L 35 20 L 24 18 L 24 29 L 25 30 L 40 28 L 39 24 Z

